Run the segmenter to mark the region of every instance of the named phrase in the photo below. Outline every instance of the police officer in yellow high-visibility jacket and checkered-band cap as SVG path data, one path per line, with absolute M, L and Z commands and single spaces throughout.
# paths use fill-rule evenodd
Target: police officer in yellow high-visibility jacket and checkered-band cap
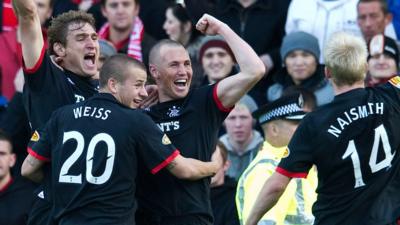
M 305 110 L 312 110 L 306 109 L 305 105 L 315 106 L 314 98 L 303 98 L 297 92 L 285 95 L 255 112 L 264 130 L 265 142 L 238 182 L 236 204 L 241 224 L 249 218 L 264 182 L 275 171 L 281 159 L 288 156 L 287 145 L 294 131 L 304 117 Z M 316 199 L 316 181 L 314 170 L 307 179 L 293 180 L 278 204 L 262 216 L 259 224 L 311 225 L 314 219 L 311 207 Z

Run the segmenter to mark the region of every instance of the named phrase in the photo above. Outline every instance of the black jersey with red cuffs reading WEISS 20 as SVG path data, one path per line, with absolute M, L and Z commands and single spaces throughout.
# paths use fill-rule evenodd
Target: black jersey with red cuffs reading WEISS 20
M 138 161 L 156 174 L 179 152 L 149 116 L 101 93 L 57 110 L 30 154 L 50 160 L 58 224 L 132 225 Z

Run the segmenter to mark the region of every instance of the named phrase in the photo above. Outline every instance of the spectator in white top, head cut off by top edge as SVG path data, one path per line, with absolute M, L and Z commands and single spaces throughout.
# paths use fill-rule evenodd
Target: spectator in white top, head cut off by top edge
M 323 49 L 337 31 L 361 36 L 357 26 L 358 0 L 293 0 L 286 20 L 286 34 L 304 31 L 314 35 Z M 302 9 L 302 10 L 299 10 Z M 319 62 L 323 63 L 322 55 Z

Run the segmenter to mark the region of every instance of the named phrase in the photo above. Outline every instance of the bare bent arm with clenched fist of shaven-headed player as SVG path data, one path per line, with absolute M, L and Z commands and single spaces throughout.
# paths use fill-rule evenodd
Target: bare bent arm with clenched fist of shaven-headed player
M 222 105 L 230 108 L 264 76 L 264 63 L 250 45 L 218 19 L 205 14 L 197 22 L 196 28 L 208 35 L 221 35 L 239 64 L 240 72 L 223 79 L 217 87 L 217 95 Z

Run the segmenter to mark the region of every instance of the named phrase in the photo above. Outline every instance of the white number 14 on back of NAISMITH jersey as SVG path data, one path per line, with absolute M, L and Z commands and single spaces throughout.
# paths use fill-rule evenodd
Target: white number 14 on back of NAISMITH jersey
M 380 162 L 377 162 L 379 143 L 381 141 L 383 145 L 382 146 L 383 151 L 385 153 L 385 159 L 381 160 Z M 395 154 L 396 152 L 392 154 L 392 149 L 389 144 L 389 138 L 387 136 L 385 127 L 383 125 L 380 125 L 379 127 L 375 128 L 374 143 L 372 145 L 371 156 L 369 158 L 369 166 L 371 168 L 371 172 L 376 173 L 383 168 L 391 166 Z M 358 157 L 354 140 L 349 141 L 349 145 L 347 146 L 346 152 L 343 154 L 342 159 L 345 159 L 348 156 L 350 156 L 351 161 L 353 161 L 354 178 L 355 178 L 354 188 L 362 187 L 365 185 L 365 183 L 362 178 L 360 158 Z

